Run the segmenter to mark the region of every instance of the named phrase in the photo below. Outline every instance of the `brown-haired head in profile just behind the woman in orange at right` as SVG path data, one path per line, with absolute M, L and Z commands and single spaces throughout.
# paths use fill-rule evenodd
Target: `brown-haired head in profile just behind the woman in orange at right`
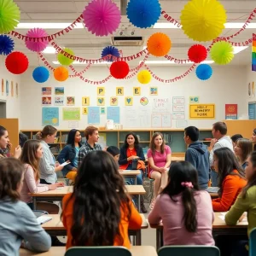
M 236 157 L 244 170 L 247 166 L 247 158 L 253 152 L 253 142 L 245 138 L 240 138 L 236 141 L 236 147 L 234 148 Z

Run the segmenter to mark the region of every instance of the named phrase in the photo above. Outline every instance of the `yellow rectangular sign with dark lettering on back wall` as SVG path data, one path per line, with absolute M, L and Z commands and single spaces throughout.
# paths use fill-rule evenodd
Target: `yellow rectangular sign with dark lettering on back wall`
M 189 119 L 215 119 L 215 104 L 190 104 Z

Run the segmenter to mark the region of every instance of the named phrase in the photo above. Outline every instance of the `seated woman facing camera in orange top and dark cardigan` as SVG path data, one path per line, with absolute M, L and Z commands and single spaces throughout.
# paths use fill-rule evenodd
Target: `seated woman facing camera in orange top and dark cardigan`
M 119 154 L 119 169 L 120 170 L 131 170 L 132 169 L 132 161 L 133 160 L 141 160 L 137 164 L 137 170 L 141 171 L 140 175 L 137 175 L 137 184 L 143 185 L 143 168 L 145 167 L 142 161 L 145 160 L 145 156 L 143 154 L 143 148 L 140 147 L 137 135 L 133 132 L 129 132 L 125 136 L 125 143 L 122 148 L 120 148 Z M 142 166 L 143 163 L 143 166 Z M 131 182 L 131 179 L 129 179 Z M 144 198 L 141 196 L 141 210 L 143 213 L 148 212 L 146 207 L 144 206 Z

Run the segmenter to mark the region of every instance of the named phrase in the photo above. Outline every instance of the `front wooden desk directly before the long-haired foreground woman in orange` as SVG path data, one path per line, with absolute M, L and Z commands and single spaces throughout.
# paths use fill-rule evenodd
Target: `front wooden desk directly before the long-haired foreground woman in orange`
M 145 218 L 144 214 L 140 214 L 143 218 L 143 224 L 140 230 L 129 230 L 129 236 L 134 236 L 134 245 L 142 244 L 142 230 L 148 229 L 148 221 Z M 67 230 L 62 224 L 60 214 L 49 214 L 49 217 L 52 219 L 48 222 L 42 224 L 42 228 L 49 233 L 50 236 L 67 236 Z

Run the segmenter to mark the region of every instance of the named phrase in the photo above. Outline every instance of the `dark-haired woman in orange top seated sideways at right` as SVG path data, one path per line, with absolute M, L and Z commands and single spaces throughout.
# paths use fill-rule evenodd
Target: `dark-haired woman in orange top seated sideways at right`
M 230 148 L 218 148 L 213 154 L 213 164 L 218 172 L 218 198 L 212 200 L 214 212 L 227 212 L 247 182 L 244 172 Z

